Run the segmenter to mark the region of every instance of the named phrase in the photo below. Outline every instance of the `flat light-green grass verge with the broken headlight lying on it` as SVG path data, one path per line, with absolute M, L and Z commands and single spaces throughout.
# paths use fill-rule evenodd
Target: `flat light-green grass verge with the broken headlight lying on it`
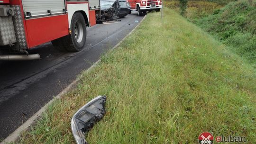
M 256 144 L 255 70 L 170 9 L 149 13 L 19 143 L 74 144 L 71 117 L 98 95 L 107 114 L 90 144 L 198 144 L 204 131 Z

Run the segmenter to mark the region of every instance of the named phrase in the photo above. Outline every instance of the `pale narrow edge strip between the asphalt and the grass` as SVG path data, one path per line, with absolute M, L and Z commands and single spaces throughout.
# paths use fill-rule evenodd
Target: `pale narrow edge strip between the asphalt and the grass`
M 141 22 L 146 18 L 146 15 L 144 18 L 141 19 L 141 21 L 137 24 L 137 26 L 130 31 L 117 45 L 115 45 L 110 51 L 116 49 L 128 36 L 130 36 L 135 29 L 141 24 Z M 96 67 L 101 62 L 101 58 L 95 62 L 89 69 L 87 69 L 85 72 L 90 72 L 94 67 Z M 76 80 L 74 80 L 71 84 L 69 84 L 64 90 L 62 90 L 54 99 L 50 100 L 43 108 L 39 109 L 37 113 L 35 113 L 32 117 L 30 117 L 24 124 L 19 126 L 13 133 L 11 133 L 8 137 L 6 137 L 0 144 L 8 144 L 12 143 L 18 140 L 20 133 L 27 131 L 30 126 L 35 124 L 36 120 L 46 111 L 46 109 L 56 100 L 60 99 L 64 94 L 66 94 L 68 91 L 72 90 L 74 87 L 77 86 L 78 82 L 82 78 L 82 74 L 78 76 Z

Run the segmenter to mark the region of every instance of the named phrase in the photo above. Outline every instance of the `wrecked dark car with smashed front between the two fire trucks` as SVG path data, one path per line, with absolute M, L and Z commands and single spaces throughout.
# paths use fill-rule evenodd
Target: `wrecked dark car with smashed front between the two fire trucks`
M 127 16 L 131 6 L 125 0 L 101 0 L 101 20 L 114 20 Z

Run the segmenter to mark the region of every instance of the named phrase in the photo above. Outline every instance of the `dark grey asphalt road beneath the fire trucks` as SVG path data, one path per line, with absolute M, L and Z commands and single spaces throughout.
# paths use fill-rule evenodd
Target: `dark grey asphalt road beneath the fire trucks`
M 143 17 L 133 12 L 121 21 L 87 28 L 86 46 L 81 52 L 59 52 L 51 43 L 37 46 L 30 54 L 41 60 L 0 62 L 0 140 L 6 138 L 77 76 L 97 62 L 101 55 L 123 39 Z

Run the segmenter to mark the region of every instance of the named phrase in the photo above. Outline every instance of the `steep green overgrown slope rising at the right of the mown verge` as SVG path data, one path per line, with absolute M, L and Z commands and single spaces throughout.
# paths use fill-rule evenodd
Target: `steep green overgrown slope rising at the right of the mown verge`
M 192 21 L 256 68 L 256 0 L 231 2 L 213 15 Z

